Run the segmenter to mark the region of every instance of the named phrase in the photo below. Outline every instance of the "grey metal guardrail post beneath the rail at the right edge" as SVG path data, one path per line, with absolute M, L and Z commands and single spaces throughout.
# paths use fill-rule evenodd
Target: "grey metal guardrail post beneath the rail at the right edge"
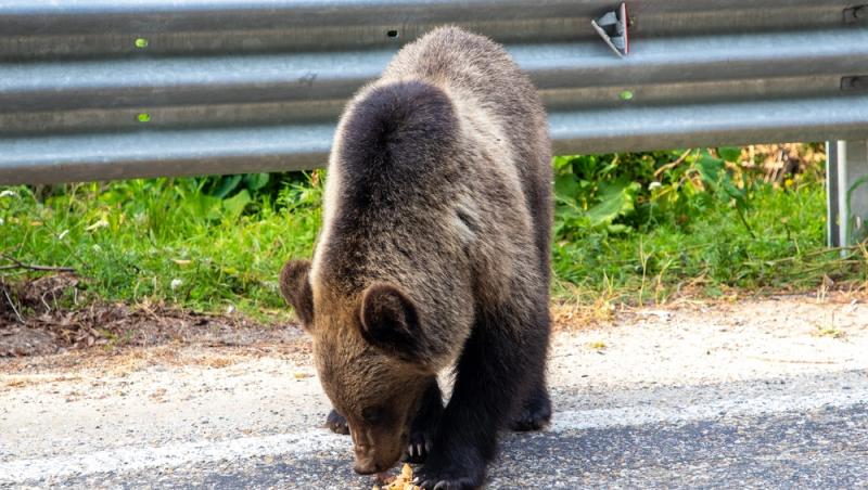
M 868 140 L 827 143 L 827 223 L 829 246 L 846 246 L 868 236 Z

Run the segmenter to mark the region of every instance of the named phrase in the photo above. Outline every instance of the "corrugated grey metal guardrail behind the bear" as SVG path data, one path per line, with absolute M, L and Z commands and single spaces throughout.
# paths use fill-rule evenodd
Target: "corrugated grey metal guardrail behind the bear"
M 616 5 L 0 0 L 0 183 L 320 166 L 346 99 L 446 23 L 507 44 L 558 153 L 868 140 L 868 7 L 635 0 L 621 60 L 590 26 Z M 847 194 L 868 162 L 837 162 Z

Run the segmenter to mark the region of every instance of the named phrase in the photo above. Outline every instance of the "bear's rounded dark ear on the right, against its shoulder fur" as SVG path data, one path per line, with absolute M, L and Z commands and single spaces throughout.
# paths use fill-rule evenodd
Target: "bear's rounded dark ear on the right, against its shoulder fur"
M 370 344 L 408 362 L 425 360 L 416 305 L 397 287 L 375 283 L 365 289 L 359 317 L 361 335 Z

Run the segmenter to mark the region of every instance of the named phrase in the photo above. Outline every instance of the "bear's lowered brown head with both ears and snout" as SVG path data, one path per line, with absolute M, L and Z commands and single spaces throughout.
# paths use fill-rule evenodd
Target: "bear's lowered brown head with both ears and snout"
M 407 447 L 410 424 L 436 375 L 418 308 L 398 286 L 314 294 L 310 262 L 288 262 L 280 289 L 314 338 L 322 387 L 346 417 L 360 474 L 385 472 Z M 316 298 L 315 298 L 316 296 Z

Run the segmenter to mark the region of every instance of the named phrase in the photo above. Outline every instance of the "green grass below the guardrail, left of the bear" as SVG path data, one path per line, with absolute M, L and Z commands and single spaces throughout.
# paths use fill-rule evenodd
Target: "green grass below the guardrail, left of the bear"
M 192 179 L 63 186 L 44 199 L 29 188 L 7 189 L 0 253 L 73 267 L 107 300 L 277 313 L 284 309 L 280 267 L 311 254 L 320 188 L 292 183 L 243 214 L 231 203 L 203 194 Z

